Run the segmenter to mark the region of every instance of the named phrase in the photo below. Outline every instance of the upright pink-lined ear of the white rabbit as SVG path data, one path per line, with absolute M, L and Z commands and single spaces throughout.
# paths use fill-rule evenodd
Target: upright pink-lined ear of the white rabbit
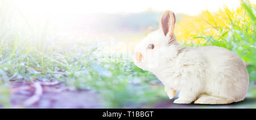
M 175 15 L 172 11 L 166 10 L 161 16 L 160 28 L 163 30 L 165 36 L 172 37 L 175 26 Z

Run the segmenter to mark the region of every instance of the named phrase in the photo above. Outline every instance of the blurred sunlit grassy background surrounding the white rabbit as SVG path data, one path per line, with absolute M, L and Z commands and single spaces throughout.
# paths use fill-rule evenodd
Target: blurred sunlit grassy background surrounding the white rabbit
M 255 1 L 0 0 L 1 108 L 255 108 Z M 181 46 L 237 53 L 250 75 L 243 102 L 175 105 L 133 48 L 176 14 Z M 177 96 L 175 97 L 177 98 Z

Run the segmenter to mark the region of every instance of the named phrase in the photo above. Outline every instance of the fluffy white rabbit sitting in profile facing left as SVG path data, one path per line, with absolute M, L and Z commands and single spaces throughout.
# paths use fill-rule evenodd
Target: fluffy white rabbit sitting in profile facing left
M 245 64 L 228 49 L 180 48 L 174 35 L 175 15 L 165 11 L 160 28 L 134 48 L 134 64 L 162 81 L 168 97 L 176 104 L 230 104 L 242 101 L 249 86 Z

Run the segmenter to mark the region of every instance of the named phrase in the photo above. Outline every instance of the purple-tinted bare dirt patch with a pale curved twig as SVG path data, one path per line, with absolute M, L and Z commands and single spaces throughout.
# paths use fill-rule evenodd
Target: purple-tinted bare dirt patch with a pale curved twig
M 59 82 L 11 83 L 13 108 L 104 108 L 90 90 L 71 90 Z

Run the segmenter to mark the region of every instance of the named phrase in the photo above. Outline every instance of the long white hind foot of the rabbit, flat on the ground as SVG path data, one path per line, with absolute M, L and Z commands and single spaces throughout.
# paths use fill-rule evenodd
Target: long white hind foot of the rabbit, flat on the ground
M 230 98 L 201 94 L 194 104 L 230 104 L 232 102 L 233 100 Z

